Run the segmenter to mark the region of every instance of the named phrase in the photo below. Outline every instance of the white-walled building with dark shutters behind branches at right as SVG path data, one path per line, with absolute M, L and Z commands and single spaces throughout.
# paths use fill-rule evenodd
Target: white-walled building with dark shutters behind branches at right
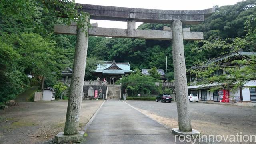
M 256 55 L 256 52 L 238 52 L 241 55 Z M 229 58 L 230 60 L 236 60 L 239 55 L 236 53 L 226 54 L 220 58 L 216 58 L 210 62 L 219 62 Z M 209 63 L 210 63 L 209 62 Z M 229 62 L 231 64 L 231 62 Z M 221 75 L 221 74 L 228 74 L 224 70 L 217 70 L 212 75 Z M 187 80 L 188 80 L 188 93 L 191 94 L 198 94 L 200 101 L 214 101 L 220 102 L 221 101 L 221 91 L 215 90 L 214 92 L 210 91 L 211 88 L 216 86 L 223 86 L 224 84 L 220 83 L 211 83 L 211 84 L 204 84 L 199 85 L 197 84 L 200 81 L 200 78 L 197 78 L 195 74 L 187 73 Z M 226 89 L 228 91 L 229 96 L 234 96 L 237 102 L 256 102 L 256 88 L 252 88 L 252 86 L 256 86 L 255 80 L 250 80 L 246 82 L 243 86 L 236 88 L 235 90 L 231 90 L 232 87 Z

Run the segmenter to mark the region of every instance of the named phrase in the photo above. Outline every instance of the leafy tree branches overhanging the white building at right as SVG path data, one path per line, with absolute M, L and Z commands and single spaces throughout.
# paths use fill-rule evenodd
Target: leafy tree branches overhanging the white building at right
M 256 27 L 251 25 L 251 20 L 255 17 L 248 16 L 248 20 L 244 23 L 248 34 L 245 38 L 228 38 L 225 40 L 214 40 L 214 41 L 203 41 L 204 45 L 202 49 L 215 49 L 215 50 L 225 50 L 222 54 L 226 53 L 236 53 L 240 58 L 238 60 L 233 60 L 231 65 L 224 65 L 223 63 L 229 62 L 230 58 L 226 58 L 221 62 L 201 62 L 198 64 L 196 69 L 190 70 L 190 72 L 195 73 L 199 78 L 201 78 L 201 84 L 208 83 L 221 83 L 224 84 L 226 88 L 232 86 L 237 88 L 243 86 L 246 82 L 250 80 L 256 80 L 256 55 L 242 55 L 239 53 L 241 49 L 245 51 L 256 52 Z M 212 75 L 216 70 L 224 70 L 228 74 Z M 214 89 L 218 89 L 216 86 Z

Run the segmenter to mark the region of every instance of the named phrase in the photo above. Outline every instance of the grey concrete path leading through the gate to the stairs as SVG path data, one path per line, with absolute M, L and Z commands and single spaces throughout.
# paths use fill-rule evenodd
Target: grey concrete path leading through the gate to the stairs
M 86 144 L 179 144 L 170 130 L 121 100 L 108 100 L 86 129 Z M 178 140 L 178 138 L 177 138 Z

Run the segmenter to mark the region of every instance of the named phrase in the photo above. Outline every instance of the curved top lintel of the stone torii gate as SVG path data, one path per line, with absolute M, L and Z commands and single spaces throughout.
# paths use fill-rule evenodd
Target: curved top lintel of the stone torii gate
M 83 12 L 88 12 L 91 19 L 115 20 L 148 23 L 170 23 L 173 20 L 181 20 L 182 24 L 200 24 L 204 18 L 210 16 L 215 8 L 205 10 L 157 10 L 143 8 L 125 8 L 116 6 L 99 6 L 90 4 L 78 4 Z

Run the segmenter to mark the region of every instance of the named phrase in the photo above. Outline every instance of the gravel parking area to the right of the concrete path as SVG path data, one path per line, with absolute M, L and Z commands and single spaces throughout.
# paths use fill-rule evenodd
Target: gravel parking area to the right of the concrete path
M 126 101 L 170 128 L 178 128 L 176 102 Z M 202 134 L 256 135 L 256 107 L 189 103 L 192 128 Z

